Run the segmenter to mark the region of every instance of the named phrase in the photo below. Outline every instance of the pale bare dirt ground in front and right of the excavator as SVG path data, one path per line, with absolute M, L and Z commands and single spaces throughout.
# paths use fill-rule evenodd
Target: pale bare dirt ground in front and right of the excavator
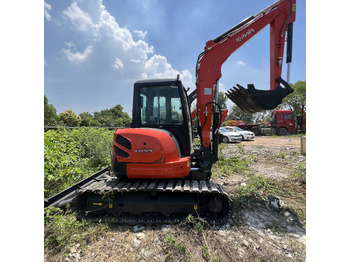
M 250 174 L 282 183 L 286 190 L 291 185 L 291 174 L 306 161 L 300 154 L 300 137 L 256 137 L 255 141 L 227 144 L 220 150 L 224 157 L 249 157 Z M 249 177 L 232 173 L 214 176 L 213 180 L 233 196 L 247 185 Z M 302 203 L 305 210 L 305 187 L 297 191 L 297 197 L 291 193 L 280 200 L 289 207 L 300 208 Z M 96 241 L 73 246 L 65 254 L 46 254 L 45 261 L 306 260 L 306 225 L 294 209 L 282 206 L 274 210 L 267 202 L 250 199 L 236 202 L 232 217 L 222 226 L 210 227 L 200 221 L 162 226 L 109 225 Z

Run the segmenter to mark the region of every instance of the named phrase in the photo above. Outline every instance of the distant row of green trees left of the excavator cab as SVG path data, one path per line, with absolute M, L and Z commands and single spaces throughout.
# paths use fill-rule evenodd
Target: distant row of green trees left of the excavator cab
M 57 114 L 56 108 L 49 104 L 44 95 L 44 126 L 69 127 L 127 127 L 131 124 L 128 113 L 123 112 L 121 105 L 98 112 L 83 112 L 77 115 L 71 109 Z

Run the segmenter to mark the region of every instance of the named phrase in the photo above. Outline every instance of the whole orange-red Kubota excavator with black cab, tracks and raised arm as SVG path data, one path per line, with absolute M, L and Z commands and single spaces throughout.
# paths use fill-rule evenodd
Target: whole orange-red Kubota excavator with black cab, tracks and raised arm
M 119 224 L 176 223 L 189 214 L 210 224 L 225 223 L 232 200 L 211 180 L 218 130 L 227 114 L 218 105 L 221 66 L 270 25 L 270 89 L 237 84 L 226 95 L 249 113 L 277 107 L 293 92 L 281 72 L 285 42 L 286 60 L 291 62 L 295 13 L 296 0 L 279 0 L 208 41 L 198 56 L 191 93 L 179 75 L 134 83 L 131 127 L 114 132 L 111 167 L 51 197 L 45 206 L 70 203 L 78 218 Z M 199 146 L 193 144 L 193 115 L 198 118 Z

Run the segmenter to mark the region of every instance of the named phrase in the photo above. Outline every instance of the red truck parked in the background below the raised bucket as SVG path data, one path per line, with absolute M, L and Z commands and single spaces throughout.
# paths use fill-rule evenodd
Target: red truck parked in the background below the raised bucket
M 287 135 L 296 132 L 295 116 L 292 110 L 275 110 L 271 113 L 271 122 L 266 124 L 246 124 L 244 121 L 237 121 L 236 124 L 230 126 L 238 126 L 242 129 L 254 132 L 258 135 Z

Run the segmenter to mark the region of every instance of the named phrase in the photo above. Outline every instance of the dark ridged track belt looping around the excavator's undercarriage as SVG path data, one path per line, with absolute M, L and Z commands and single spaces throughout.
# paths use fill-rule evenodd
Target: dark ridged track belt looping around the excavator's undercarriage
M 109 195 L 113 193 L 128 193 L 140 191 L 155 192 L 184 192 L 203 195 L 216 195 L 225 201 L 224 211 L 220 215 L 202 216 L 209 224 L 223 224 L 227 222 L 231 214 L 231 200 L 221 185 L 213 181 L 204 180 L 118 180 L 117 178 L 108 178 L 96 181 L 86 188 L 78 191 L 77 197 L 72 201 L 73 211 L 77 212 L 78 218 L 87 218 L 92 221 L 104 221 L 117 224 L 164 224 L 179 223 L 184 217 L 164 217 L 164 216 L 122 216 L 122 217 L 93 217 L 85 216 L 81 212 L 81 203 L 90 195 Z

